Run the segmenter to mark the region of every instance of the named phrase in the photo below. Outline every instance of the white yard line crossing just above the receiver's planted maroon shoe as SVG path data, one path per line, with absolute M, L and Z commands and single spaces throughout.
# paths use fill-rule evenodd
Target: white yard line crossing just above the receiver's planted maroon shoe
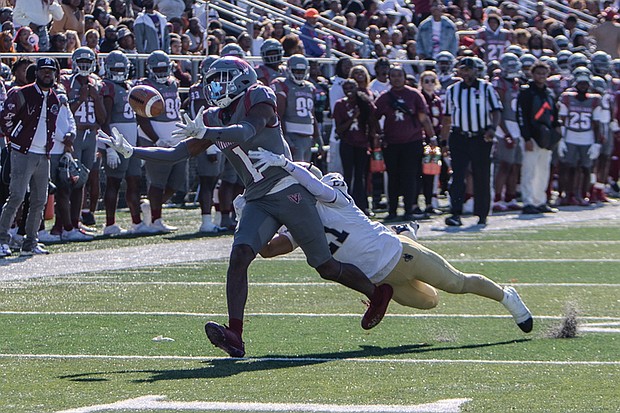
M 0 315 L 20 316 L 149 316 L 149 317 L 227 317 L 225 313 L 189 313 L 176 311 L 0 311 Z M 360 317 L 356 313 L 246 313 L 246 317 Z M 386 314 L 388 318 L 512 318 L 504 314 Z M 563 320 L 565 316 L 535 316 L 538 320 Z M 579 317 L 579 320 L 620 321 L 620 317 Z

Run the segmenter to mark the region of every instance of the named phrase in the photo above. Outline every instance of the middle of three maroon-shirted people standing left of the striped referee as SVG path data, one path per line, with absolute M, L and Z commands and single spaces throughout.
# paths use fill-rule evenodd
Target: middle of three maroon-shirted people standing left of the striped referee
M 405 70 L 400 65 L 390 67 L 391 88 L 377 98 L 377 119 L 385 117 L 383 125 L 383 156 L 388 174 L 388 216 L 397 219 L 398 197 L 403 196 L 405 220 L 413 219 L 418 205 L 417 182 L 424 154 L 424 132 L 435 139 L 428 116 L 426 100 L 418 91 L 405 85 Z

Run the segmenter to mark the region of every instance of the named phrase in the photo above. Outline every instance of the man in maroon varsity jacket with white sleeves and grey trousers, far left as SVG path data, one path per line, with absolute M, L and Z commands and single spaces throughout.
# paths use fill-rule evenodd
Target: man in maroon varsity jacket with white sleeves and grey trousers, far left
M 10 193 L 0 215 L 0 257 L 12 253 L 9 229 L 28 188 L 30 210 L 22 254 L 47 253 L 37 243 L 37 232 L 47 201 L 49 153 L 60 110 L 60 101 L 52 90 L 56 67 L 54 59 L 39 59 L 35 83 L 11 90 L 0 113 L 0 129 L 8 137 L 11 151 Z

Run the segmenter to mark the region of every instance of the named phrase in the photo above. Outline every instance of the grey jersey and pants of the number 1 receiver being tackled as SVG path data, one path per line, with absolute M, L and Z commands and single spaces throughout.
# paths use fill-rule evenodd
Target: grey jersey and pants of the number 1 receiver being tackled
M 239 124 L 247 118 L 250 109 L 259 104 L 276 109 L 276 96 L 269 87 L 257 84 L 227 108 L 209 108 L 204 115 L 207 126 Z M 227 118 L 226 121 L 224 118 Z M 275 121 L 254 136 L 237 141 L 217 140 L 216 145 L 235 167 L 245 187 L 247 205 L 235 231 L 234 245 L 249 245 L 254 252 L 266 245 L 276 231 L 286 225 L 304 250 L 308 263 L 317 267 L 331 257 L 323 234 L 323 224 L 316 211 L 314 197 L 282 168 L 270 167 L 259 172 L 247 153 L 258 148 L 290 159 L 290 150 L 280 127 Z M 303 220 L 300 220 L 303 217 Z

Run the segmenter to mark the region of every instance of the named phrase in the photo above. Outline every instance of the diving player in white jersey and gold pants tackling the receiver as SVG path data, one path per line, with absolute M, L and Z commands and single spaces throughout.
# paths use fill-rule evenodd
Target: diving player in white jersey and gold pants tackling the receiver
M 330 173 L 320 179 L 318 168 L 313 167 L 311 172 L 262 148 L 250 151 L 249 156 L 257 160 L 254 166 L 259 171 L 281 167 L 308 189 L 318 201 L 317 210 L 334 257 L 358 266 L 374 284 L 391 285 L 397 303 L 423 310 L 435 308 L 439 303 L 435 288 L 452 294 L 476 294 L 502 303 L 522 331 L 532 331 L 532 315 L 514 288 L 502 288 L 484 275 L 463 273 L 411 238 L 397 236 L 370 221 L 355 206 L 340 174 Z M 275 257 L 295 248 L 294 237 L 282 232 L 260 254 Z

